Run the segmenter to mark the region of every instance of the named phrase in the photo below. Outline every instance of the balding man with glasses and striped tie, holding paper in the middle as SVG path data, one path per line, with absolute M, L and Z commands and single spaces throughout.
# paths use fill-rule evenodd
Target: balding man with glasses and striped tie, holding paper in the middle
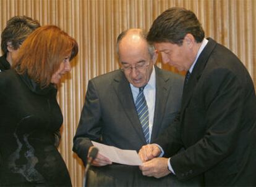
M 179 112 L 184 79 L 154 65 L 158 54 L 153 46 L 148 45 L 146 37 L 146 33 L 140 29 L 122 32 L 117 38 L 121 70 L 88 82 L 73 147 L 84 164 L 87 163 L 88 150 L 93 146 L 91 140 L 139 151 L 147 141 L 164 132 Z M 150 135 L 149 140 L 143 133 L 135 106 L 140 87 L 143 87 L 147 101 L 149 130 L 146 130 Z M 112 169 L 109 164 L 112 164 L 111 161 L 99 153 L 92 163 L 94 166 L 106 165 L 98 167 L 98 170 L 106 170 L 110 175 Z M 138 167 L 136 169 L 139 171 Z M 97 167 L 93 167 L 93 170 L 97 170 Z M 129 177 L 119 178 L 126 180 Z

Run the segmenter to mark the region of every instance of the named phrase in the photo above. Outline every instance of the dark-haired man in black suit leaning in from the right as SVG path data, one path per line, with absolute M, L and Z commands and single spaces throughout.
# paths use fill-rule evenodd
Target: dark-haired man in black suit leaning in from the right
M 147 161 L 140 167 L 143 175 L 255 186 L 256 97 L 244 65 L 226 47 L 205 39 L 195 14 L 179 7 L 156 18 L 147 39 L 164 63 L 188 73 L 179 119 L 152 142 L 156 145 L 140 149 Z M 167 148 L 176 153 L 181 147 L 184 151 L 161 157 Z

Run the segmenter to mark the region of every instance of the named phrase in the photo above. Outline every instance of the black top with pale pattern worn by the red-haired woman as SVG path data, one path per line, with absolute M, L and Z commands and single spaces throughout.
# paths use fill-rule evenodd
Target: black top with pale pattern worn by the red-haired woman
M 62 114 L 53 85 L 40 89 L 26 74 L 0 73 L 0 186 L 71 186 L 54 146 Z

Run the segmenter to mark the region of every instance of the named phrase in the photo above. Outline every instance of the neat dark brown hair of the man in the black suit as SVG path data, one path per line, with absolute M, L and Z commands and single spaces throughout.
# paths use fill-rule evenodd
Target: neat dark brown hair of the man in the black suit
M 148 32 L 148 42 L 171 42 L 182 45 L 186 34 L 192 34 L 195 41 L 205 37 L 201 23 L 194 12 L 180 7 L 165 10 L 156 18 Z

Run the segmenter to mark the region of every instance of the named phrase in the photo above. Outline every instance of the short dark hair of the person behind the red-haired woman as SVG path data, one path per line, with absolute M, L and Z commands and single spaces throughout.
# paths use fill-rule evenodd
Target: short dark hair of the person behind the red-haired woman
M 25 15 L 12 17 L 1 34 L 2 52 L 7 53 L 7 42 L 11 42 L 13 49 L 18 49 L 27 36 L 38 27 L 40 23 L 37 20 Z

